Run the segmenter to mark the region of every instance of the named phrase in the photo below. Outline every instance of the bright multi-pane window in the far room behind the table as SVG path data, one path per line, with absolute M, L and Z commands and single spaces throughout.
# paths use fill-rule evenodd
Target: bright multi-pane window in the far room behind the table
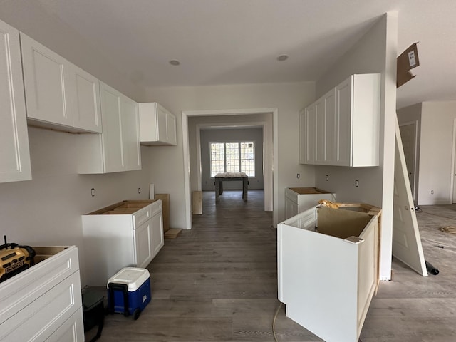
M 254 142 L 211 142 L 211 177 L 219 172 L 245 172 L 255 177 Z

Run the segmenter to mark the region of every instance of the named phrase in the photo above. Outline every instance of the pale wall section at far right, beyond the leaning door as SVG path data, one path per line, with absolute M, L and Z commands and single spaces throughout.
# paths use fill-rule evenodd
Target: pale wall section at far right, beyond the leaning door
M 455 120 L 455 101 L 422 103 L 418 205 L 453 202 Z

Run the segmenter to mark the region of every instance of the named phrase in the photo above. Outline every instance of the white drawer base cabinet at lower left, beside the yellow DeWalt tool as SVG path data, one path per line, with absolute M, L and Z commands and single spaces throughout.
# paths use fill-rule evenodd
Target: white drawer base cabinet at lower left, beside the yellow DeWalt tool
M 0 341 L 84 341 L 78 249 L 35 250 L 34 266 L 0 284 Z

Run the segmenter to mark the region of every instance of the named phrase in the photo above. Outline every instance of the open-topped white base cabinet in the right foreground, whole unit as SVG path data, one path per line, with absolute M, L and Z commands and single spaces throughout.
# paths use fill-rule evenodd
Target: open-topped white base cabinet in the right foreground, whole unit
M 379 215 L 313 207 L 277 227 L 279 301 L 324 341 L 358 341 L 378 286 Z

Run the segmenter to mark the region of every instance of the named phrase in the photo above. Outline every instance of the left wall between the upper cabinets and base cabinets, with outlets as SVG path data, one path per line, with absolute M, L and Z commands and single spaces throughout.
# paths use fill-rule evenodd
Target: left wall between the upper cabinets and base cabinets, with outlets
M 32 127 L 28 133 L 33 179 L 0 184 L 1 239 L 6 235 L 9 242 L 31 246 L 76 245 L 84 286 L 81 215 L 124 199 L 148 199 L 151 160 L 142 153 L 141 171 L 78 175 L 76 135 Z

